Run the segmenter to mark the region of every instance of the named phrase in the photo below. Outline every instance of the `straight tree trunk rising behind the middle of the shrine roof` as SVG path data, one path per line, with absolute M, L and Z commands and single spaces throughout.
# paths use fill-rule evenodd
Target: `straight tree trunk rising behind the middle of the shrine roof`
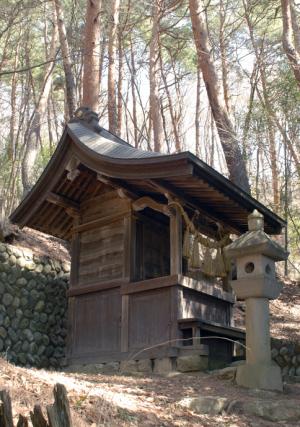
M 152 5 L 152 33 L 150 41 L 150 124 L 153 130 L 154 151 L 161 151 L 163 145 L 163 121 L 160 113 L 158 92 L 158 61 L 159 61 L 159 21 L 160 0 L 154 0 Z

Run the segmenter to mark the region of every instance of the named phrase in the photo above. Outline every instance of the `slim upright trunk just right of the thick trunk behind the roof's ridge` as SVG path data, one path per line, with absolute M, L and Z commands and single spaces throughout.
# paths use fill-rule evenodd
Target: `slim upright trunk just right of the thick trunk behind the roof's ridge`
M 111 0 L 109 11 L 109 38 L 108 38 L 108 126 L 110 132 L 117 132 L 117 105 L 116 105 L 116 44 L 119 22 L 120 0 Z

